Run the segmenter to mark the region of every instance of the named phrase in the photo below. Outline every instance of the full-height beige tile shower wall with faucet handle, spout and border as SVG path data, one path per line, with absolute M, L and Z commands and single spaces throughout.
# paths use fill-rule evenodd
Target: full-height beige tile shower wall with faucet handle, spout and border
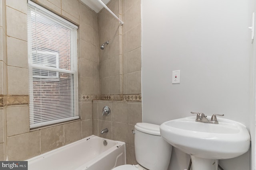
M 122 18 L 120 25 L 107 10 L 98 13 L 100 100 L 93 101 L 93 133 L 126 142 L 126 163 L 136 164 L 132 129 L 142 122 L 140 0 L 111 0 L 108 8 Z M 102 117 L 109 106 L 112 113 Z M 100 134 L 101 129 L 109 132 Z

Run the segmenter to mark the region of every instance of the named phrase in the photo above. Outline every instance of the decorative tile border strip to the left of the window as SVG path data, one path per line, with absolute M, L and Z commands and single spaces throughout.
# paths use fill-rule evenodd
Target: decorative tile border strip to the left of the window
M 0 95 L 0 107 L 29 104 L 28 95 Z

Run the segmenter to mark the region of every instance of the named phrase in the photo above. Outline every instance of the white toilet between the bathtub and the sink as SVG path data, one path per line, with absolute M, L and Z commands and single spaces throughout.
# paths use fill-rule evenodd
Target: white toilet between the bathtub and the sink
M 121 165 L 112 170 L 167 170 L 172 145 L 160 135 L 160 126 L 136 123 L 134 126 L 135 156 L 138 165 Z

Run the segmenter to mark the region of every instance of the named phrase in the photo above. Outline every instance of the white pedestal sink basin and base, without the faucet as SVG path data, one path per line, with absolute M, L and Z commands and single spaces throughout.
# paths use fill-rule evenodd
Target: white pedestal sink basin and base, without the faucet
M 240 156 L 250 147 L 250 134 L 236 121 L 219 124 L 195 121 L 196 116 L 166 121 L 160 134 L 172 146 L 191 155 L 193 170 L 217 170 L 219 159 Z

